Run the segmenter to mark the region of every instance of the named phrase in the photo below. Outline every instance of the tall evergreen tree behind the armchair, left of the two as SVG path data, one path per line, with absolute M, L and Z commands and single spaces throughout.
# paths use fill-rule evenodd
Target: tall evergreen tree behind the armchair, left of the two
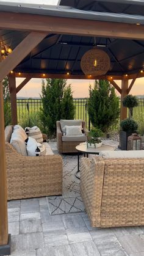
M 56 134 L 56 121 L 62 118 L 70 119 L 73 105 L 71 104 L 72 92 L 70 86 L 66 87 L 66 79 L 42 80 L 40 119 L 45 132 L 49 135 Z M 70 103 L 70 106 L 68 104 Z M 65 114 L 63 114 L 65 112 Z

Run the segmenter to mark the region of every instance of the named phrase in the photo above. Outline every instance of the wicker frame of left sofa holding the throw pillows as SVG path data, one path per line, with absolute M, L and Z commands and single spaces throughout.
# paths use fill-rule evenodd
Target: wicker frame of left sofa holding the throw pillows
M 5 128 L 8 200 L 62 194 L 62 157 L 20 155 L 10 144 L 12 130 Z

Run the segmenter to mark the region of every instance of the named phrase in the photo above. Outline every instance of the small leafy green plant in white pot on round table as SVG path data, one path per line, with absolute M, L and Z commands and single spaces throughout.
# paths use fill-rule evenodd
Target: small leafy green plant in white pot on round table
M 103 131 L 98 128 L 93 128 L 88 132 L 87 147 L 98 148 L 101 147 L 101 137 L 104 135 Z

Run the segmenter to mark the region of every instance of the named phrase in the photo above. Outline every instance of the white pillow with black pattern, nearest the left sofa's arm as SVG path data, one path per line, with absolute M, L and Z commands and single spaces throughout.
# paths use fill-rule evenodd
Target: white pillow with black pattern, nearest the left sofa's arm
M 38 143 L 34 138 L 28 137 L 25 142 L 28 156 L 46 155 L 45 145 Z

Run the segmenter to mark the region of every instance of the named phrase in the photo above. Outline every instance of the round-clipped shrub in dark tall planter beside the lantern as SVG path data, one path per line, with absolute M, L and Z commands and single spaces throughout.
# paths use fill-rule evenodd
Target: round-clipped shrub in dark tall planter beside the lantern
M 138 124 L 135 122 L 135 120 L 128 118 L 120 122 L 120 127 L 121 150 L 127 150 L 128 136 L 130 136 L 132 133 L 137 133 Z

